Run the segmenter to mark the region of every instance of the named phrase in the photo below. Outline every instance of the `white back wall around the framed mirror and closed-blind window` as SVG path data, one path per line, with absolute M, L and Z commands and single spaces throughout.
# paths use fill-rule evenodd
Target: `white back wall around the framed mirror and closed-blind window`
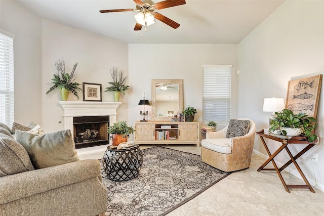
M 130 44 L 129 83 L 133 87 L 129 98 L 129 122 L 141 119 L 143 97 L 151 100 L 151 79 L 183 79 L 183 108 L 197 109 L 195 121 L 202 121 L 203 64 L 231 64 L 232 117 L 237 117 L 237 45 L 173 45 Z M 150 107 L 148 107 L 150 109 Z M 150 119 L 151 116 L 148 116 Z

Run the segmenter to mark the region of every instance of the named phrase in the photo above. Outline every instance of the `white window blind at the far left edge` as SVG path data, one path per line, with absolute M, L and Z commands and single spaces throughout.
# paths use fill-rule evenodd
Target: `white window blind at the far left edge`
M 14 122 L 14 36 L 0 31 L 0 122 Z

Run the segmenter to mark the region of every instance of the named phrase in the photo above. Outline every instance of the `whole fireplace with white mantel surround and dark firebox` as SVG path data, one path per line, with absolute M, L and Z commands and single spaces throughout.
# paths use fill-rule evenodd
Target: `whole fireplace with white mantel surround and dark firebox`
M 64 111 L 64 129 L 71 130 L 75 148 L 109 143 L 108 127 L 116 123 L 121 102 L 59 101 L 59 104 Z

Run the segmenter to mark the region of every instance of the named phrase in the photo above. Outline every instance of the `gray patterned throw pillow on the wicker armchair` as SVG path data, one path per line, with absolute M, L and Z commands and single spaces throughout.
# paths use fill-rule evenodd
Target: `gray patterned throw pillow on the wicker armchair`
M 226 138 L 240 137 L 249 133 L 250 121 L 230 119 L 227 127 Z

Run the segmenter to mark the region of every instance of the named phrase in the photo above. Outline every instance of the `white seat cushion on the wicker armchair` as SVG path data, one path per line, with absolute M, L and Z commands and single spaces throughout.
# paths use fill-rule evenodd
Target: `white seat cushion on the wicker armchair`
M 226 138 L 201 140 L 201 146 L 223 154 L 230 154 L 232 152 L 229 139 Z

